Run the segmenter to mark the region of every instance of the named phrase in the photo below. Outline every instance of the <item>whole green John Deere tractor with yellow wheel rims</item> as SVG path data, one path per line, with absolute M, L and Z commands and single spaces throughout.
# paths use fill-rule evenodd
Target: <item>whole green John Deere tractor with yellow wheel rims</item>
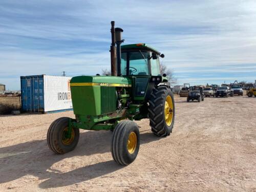
M 128 165 L 140 146 L 138 125 L 133 120 L 149 118 L 156 136 L 169 136 L 175 103 L 166 75 L 160 75 L 159 57 L 164 55 L 146 44 L 120 46 L 123 30 L 111 24 L 112 75 L 71 79 L 75 119 L 56 119 L 49 127 L 47 142 L 54 153 L 65 154 L 76 147 L 79 129 L 110 130 L 113 159 Z

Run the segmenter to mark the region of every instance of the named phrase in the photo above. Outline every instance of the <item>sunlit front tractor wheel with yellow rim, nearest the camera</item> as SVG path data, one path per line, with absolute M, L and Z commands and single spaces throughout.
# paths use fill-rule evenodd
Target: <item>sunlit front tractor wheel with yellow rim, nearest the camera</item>
M 111 154 L 120 165 L 132 163 L 139 152 L 140 133 L 138 125 L 131 120 L 119 122 L 112 136 Z

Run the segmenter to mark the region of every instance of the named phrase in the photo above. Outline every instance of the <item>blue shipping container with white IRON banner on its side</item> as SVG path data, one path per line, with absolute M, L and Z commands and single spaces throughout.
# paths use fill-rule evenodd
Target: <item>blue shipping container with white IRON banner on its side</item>
M 59 101 L 58 96 L 60 93 L 69 92 L 68 83 L 66 83 L 69 79 L 71 77 L 48 75 L 21 76 L 22 111 L 54 113 L 73 110 L 71 97 L 69 100 L 67 98 L 67 100 Z

